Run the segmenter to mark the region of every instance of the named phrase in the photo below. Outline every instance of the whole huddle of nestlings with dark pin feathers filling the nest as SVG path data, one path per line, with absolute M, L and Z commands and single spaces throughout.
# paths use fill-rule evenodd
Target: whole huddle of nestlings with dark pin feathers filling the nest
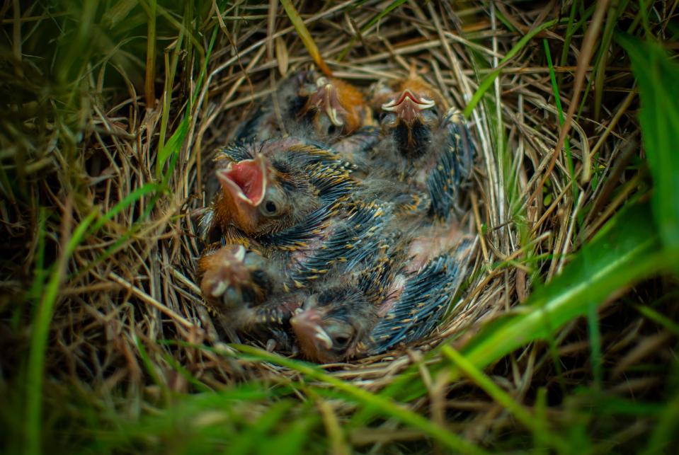
M 345 362 L 421 340 L 469 274 L 475 146 L 421 76 L 280 83 L 217 153 L 198 282 L 222 326 Z

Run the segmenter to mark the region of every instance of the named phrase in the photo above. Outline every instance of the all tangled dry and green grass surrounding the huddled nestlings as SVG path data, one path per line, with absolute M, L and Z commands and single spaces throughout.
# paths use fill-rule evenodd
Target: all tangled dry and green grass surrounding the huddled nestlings
M 335 76 L 414 65 L 479 146 L 454 311 L 319 367 L 229 338 L 195 284 L 210 158 L 312 64 L 299 23 L 275 1 L 20 3 L 0 8 L 1 451 L 670 447 L 674 4 L 297 2 Z

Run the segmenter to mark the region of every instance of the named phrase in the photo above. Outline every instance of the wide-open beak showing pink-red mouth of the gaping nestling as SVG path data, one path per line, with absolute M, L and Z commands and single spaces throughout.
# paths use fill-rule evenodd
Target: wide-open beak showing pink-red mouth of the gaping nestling
M 266 159 L 258 154 L 253 159 L 229 163 L 217 171 L 224 195 L 230 195 L 236 202 L 258 207 L 266 194 Z

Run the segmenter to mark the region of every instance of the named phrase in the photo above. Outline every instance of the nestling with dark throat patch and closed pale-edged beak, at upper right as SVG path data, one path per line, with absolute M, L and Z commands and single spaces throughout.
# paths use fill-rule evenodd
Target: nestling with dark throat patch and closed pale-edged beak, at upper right
M 462 115 L 414 71 L 390 86 L 378 84 L 373 104 L 381 110 L 383 138 L 373 148 L 373 165 L 426 190 L 430 214 L 449 219 L 476 155 Z

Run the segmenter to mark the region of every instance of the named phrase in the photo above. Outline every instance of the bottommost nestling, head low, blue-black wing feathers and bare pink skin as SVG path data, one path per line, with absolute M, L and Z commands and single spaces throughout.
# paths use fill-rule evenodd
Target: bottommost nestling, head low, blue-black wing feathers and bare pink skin
M 364 273 L 353 285 L 308 299 L 290 320 L 302 355 L 343 362 L 428 335 L 466 277 L 470 243 L 451 246 L 460 237 L 426 229 L 410 241 L 401 239 L 392 244 L 390 258 L 377 258 L 380 263 L 367 268 L 370 278 Z

